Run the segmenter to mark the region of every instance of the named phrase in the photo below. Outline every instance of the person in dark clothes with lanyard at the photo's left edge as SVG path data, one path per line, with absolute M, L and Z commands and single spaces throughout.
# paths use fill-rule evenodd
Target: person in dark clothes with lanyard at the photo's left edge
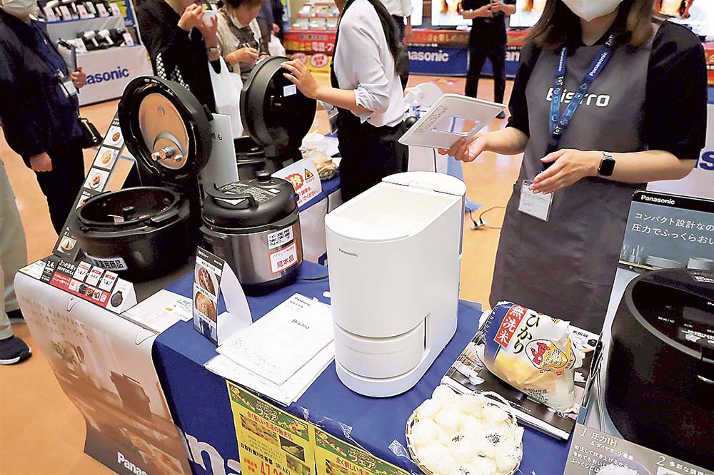
M 69 71 L 34 15 L 36 0 L 0 0 L 0 121 L 10 148 L 34 170 L 59 234 L 84 182 L 84 131 Z

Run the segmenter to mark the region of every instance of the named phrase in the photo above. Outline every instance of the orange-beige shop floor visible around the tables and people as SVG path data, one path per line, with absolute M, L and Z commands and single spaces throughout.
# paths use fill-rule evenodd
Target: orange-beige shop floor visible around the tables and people
M 410 83 L 435 81 L 444 92 L 461 93 L 463 79 L 413 76 Z M 483 98 L 493 98 L 493 83 L 482 81 Z M 508 93 L 512 83 L 508 84 Z M 102 133 L 116 111 L 116 101 L 87 106 L 82 116 L 89 118 Z M 325 118 L 320 121 L 326 126 Z M 494 121 L 492 127 L 503 126 Z M 46 201 L 34 173 L 7 146 L 0 134 L 0 158 L 4 161 L 25 226 L 30 262 L 51 252 L 56 235 L 49 222 Z M 94 152 L 85 152 L 85 162 Z M 518 175 L 521 159 L 486 153 L 465 166 L 468 196 L 483 205 L 503 206 Z M 503 210 L 488 213 L 491 225 L 503 220 Z M 499 232 L 496 229 L 468 230 L 464 233 L 461 297 L 486 302 L 491 290 L 493 261 Z M 32 347 L 33 339 L 26 325 L 14 326 L 15 334 Z M 2 475 L 94 475 L 111 473 L 86 456 L 84 421 L 61 392 L 46 359 L 39 349 L 29 361 L 0 368 L 0 474 Z

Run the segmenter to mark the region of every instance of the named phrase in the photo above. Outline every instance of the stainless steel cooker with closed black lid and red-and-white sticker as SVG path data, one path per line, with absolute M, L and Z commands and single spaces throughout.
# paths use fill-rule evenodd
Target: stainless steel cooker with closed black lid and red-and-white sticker
M 248 295 L 295 282 L 303 262 L 293 185 L 258 172 L 253 180 L 204 190 L 206 248 L 228 262 Z

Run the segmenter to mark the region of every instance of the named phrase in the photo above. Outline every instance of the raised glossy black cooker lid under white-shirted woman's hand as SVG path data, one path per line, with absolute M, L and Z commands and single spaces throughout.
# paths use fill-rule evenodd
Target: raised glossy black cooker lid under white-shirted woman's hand
M 273 56 L 253 68 L 241 91 L 241 121 L 258 145 L 297 150 L 315 120 L 316 101 L 283 76 L 285 61 Z

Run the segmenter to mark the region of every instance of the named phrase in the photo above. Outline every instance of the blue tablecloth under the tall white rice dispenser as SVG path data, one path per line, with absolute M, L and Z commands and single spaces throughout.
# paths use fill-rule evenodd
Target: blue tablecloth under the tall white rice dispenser
M 320 277 L 325 267 L 304 262 L 301 277 Z M 192 275 L 187 275 L 169 290 L 191 295 Z M 253 318 L 265 315 L 273 307 L 298 292 L 308 297 L 322 296 L 328 290 L 327 280 L 298 280 L 265 297 L 250 297 Z M 456 335 L 416 387 L 397 397 L 373 399 L 347 389 L 338 380 L 334 363 L 313 383 L 296 404 L 286 409 L 307 419 L 331 434 L 362 446 L 386 461 L 420 474 L 408 459 L 403 447 L 406 421 L 415 407 L 431 396 L 451 363 L 476 333 L 480 305 L 461 302 L 458 307 Z M 219 309 L 219 312 L 221 310 Z M 161 379 L 171 414 L 183 431 L 188 446 L 203 451 L 192 464 L 196 474 L 233 474 L 229 460 L 238 460 L 238 443 L 233 426 L 231 405 L 223 379 L 203 368 L 216 355 L 211 342 L 193 330 L 191 322 L 179 322 L 159 335 L 154 345 L 154 362 Z M 563 473 L 568 443 L 526 429 L 521 472 L 525 475 L 559 475 Z M 218 465 L 223 468 L 218 469 Z

